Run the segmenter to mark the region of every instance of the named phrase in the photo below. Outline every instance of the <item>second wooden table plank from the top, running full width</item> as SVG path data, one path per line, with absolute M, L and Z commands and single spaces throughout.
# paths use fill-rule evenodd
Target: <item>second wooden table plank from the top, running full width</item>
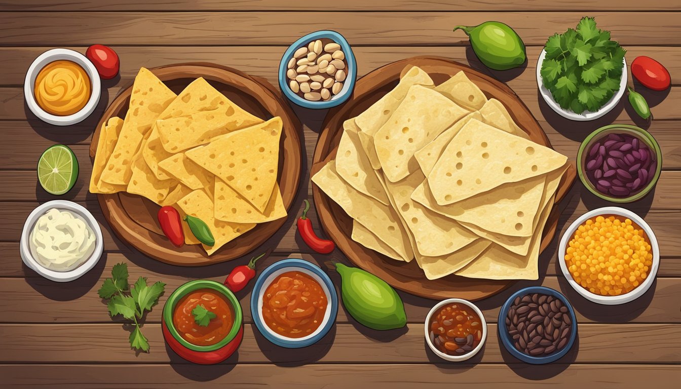
M 622 44 L 677 45 L 676 12 L 589 12 Z M 526 45 L 574 28 L 584 12 L 503 12 L 494 19 L 513 26 Z M 0 45 L 289 45 L 298 37 L 332 27 L 352 46 L 466 45 L 456 25 L 479 25 L 488 12 L 1 12 Z M 304 22 L 302 22 L 304 20 Z M 332 23 L 330 25 L 330 22 Z

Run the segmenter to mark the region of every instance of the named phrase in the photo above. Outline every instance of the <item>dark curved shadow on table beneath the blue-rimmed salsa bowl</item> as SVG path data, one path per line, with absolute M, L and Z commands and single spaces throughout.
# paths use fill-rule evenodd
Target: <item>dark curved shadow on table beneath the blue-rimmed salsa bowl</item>
M 255 327 L 255 326 L 254 326 Z M 281 367 L 298 367 L 304 364 L 314 363 L 326 356 L 336 339 L 336 324 L 319 341 L 311 346 L 299 349 L 281 347 L 268 341 L 258 330 L 253 331 L 255 343 L 265 358 L 273 364 Z

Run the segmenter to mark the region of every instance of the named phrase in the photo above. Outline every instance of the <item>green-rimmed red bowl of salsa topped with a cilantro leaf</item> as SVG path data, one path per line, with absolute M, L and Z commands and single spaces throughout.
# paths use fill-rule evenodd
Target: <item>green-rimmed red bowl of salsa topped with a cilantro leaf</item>
M 163 307 L 163 338 L 189 362 L 214 364 L 229 358 L 244 335 L 236 296 L 221 283 L 189 281 Z

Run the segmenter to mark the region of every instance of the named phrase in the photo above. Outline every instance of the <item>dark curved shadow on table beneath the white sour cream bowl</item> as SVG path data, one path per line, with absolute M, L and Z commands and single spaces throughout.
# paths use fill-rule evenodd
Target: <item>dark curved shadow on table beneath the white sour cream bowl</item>
M 50 300 L 69 301 L 84 296 L 95 287 L 99 282 L 101 273 L 104 272 L 106 257 L 107 253 L 103 253 L 99 262 L 97 262 L 89 272 L 69 283 L 50 281 L 49 279 L 40 277 L 34 270 L 23 263 L 21 264 L 21 267 L 24 272 L 26 283 L 31 285 L 36 292 Z M 65 285 L 67 285 L 67 287 L 65 287 Z

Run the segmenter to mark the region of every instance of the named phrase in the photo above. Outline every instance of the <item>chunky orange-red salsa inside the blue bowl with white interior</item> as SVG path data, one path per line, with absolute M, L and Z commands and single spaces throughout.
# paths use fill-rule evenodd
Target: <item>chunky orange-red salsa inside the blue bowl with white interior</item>
M 265 290 L 262 316 L 277 334 L 302 338 L 321 325 L 326 301 L 324 290 L 312 277 L 299 271 L 282 273 Z

